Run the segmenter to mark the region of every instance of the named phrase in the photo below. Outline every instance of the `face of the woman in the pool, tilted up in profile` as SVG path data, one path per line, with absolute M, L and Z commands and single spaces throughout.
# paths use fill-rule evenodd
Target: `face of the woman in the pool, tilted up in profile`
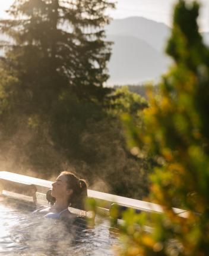
M 58 198 L 68 198 L 69 195 L 71 195 L 72 189 L 67 188 L 66 183 L 66 176 L 65 175 L 59 175 L 56 178 L 56 181 L 52 183 L 52 196 L 56 199 Z

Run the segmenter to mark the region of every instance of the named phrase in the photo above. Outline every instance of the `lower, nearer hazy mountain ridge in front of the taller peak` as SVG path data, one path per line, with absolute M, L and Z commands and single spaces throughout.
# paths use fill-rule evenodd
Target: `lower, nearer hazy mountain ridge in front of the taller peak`
M 157 79 L 166 70 L 166 58 L 144 40 L 112 35 L 114 42 L 109 63 L 109 85 L 136 84 Z

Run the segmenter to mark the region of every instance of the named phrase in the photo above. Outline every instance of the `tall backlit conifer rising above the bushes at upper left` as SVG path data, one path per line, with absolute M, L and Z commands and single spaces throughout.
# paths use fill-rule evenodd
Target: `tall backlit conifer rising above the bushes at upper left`
M 29 110 L 38 105 L 47 113 L 69 91 L 102 100 L 110 58 L 110 43 L 103 40 L 109 7 L 113 4 L 106 0 L 14 1 L 8 11 L 12 18 L 1 21 L 1 32 L 11 38 L 4 44 L 2 66 L 19 80 L 11 89 L 17 105 Z

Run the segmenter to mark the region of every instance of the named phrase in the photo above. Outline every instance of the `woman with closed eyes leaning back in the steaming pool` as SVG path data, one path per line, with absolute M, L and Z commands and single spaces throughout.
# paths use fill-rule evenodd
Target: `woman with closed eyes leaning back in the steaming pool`
M 87 184 L 84 180 L 68 171 L 63 171 L 52 183 L 51 196 L 55 198 L 55 204 L 34 213 L 45 214 L 46 218 L 66 218 L 72 217 L 68 207 L 84 210 L 84 201 L 87 197 Z

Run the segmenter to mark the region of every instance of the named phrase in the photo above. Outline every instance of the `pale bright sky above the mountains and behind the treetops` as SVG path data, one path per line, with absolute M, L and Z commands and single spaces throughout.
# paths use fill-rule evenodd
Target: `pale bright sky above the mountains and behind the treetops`
M 0 17 L 5 17 L 4 10 L 12 2 L 13 0 L 0 0 Z M 117 2 L 116 10 L 110 11 L 113 18 L 143 16 L 169 25 L 176 0 L 118 0 Z M 200 0 L 200 2 L 202 3 L 201 30 L 209 31 L 209 0 Z

